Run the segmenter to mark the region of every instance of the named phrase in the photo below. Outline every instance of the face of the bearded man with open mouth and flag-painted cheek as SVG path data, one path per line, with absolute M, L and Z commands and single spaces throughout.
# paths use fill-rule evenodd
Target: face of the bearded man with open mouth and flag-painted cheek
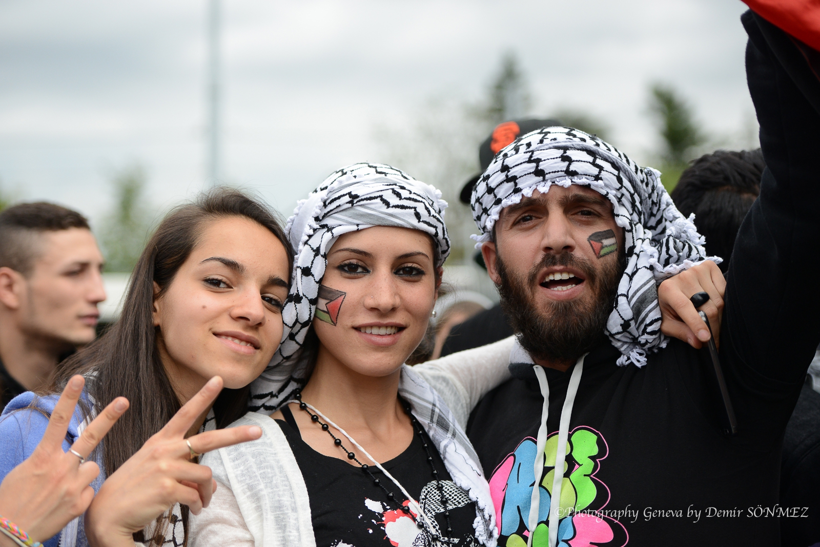
M 571 361 L 604 337 L 622 276 L 623 229 L 601 194 L 572 184 L 502 210 L 481 249 L 535 359 Z

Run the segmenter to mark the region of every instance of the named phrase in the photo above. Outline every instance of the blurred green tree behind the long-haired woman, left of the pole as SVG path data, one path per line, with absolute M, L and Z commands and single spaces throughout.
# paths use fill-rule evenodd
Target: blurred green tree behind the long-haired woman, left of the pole
M 122 170 L 114 176 L 112 187 L 114 206 L 101 224 L 100 242 L 106 269 L 130 272 L 152 227 L 152 215 L 144 195 L 145 172 L 139 165 Z

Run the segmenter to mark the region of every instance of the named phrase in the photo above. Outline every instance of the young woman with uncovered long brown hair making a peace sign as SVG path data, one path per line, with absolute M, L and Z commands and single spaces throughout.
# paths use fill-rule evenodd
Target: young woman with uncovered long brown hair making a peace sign
M 261 434 L 219 428 L 245 413 L 248 384 L 279 346 L 292 261 L 276 216 L 242 192 L 216 189 L 166 216 L 134 268 L 120 319 L 54 382 L 57 390 L 76 373 L 86 378 L 69 437 L 116 397 L 130 409 L 89 456 L 102 473 L 85 518 L 44 545 L 185 542 L 189 510 L 213 491 L 196 456 Z M 3 476 L 32 453 L 55 401 L 29 393 L 7 407 Z

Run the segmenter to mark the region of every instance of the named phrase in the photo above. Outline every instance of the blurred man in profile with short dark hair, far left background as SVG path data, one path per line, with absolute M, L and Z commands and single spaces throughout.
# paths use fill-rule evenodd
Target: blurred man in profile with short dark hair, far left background
M 103 255 L 88 221 L 51 203 L 0 213 L 0 409 L 46 386 L 96 334 Z

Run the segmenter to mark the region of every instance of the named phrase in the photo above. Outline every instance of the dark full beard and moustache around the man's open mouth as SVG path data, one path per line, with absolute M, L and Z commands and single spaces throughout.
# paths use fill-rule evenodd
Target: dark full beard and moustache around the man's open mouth
M 572 362 L 604 341 L 604 328 L 613 311 L 617 286 L 626 256 L 596 270 L 589 260 L 572 253 L 546 254 L 532 267 L 526 279 L 507 270 L 501 256 L 496 259 L 501 278 L 498 285 L 501 307 L 518 334 L 521 346 L 535 359 Z M 591 298 L 584 301 L 547 301 L 546 309 L 535 304 L 532 289 L 540 272 L 553 266 L 569 266 L 584 273 Z

